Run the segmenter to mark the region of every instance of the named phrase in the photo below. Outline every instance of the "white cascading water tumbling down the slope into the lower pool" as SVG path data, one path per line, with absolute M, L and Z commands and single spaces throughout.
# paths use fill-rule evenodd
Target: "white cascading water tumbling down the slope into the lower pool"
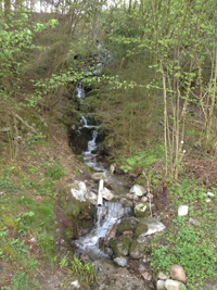
M 78 96 L 81 96 L 82 92 L 81 87 L 78 86 Z M 103 165 L 98 162 L 98 154 L 94 154 L 93 151 L 97 151 L 98 146 L 95 139 L 98 137 L 97 126 L 92 124 L 88 124 L 91 122 L 91 117 L 88 119 L 85 115 L 81 116 L 80 123 L 82 127 L 91 129 L 92 139 L 88 141 L 87 151 L 82 152 L 84 162 L 89 167 L 92 167 L 94 171 L 104 172 L 108 176 L 108 173 L 105 171 Z M 93 152 L 93 153 L 92 153 Z M 99 192 L 103 188 L 103 180 L 100 180 Z M 116 202 L 99 202 L 99 206 L 97 206 L 97 223 L 90 232 L 80 237 L 78 240 L 73 241 L 73 244 L 77 247 L 75 250 L 75 254 L 79 255 L 85 252 L 90 257 L 95 259 L 99 254 L 99 241 L 101 238 L 105 238 L 108 231 L 112 229 L 113 225 L 120 222 L 120 217 L 130 213 L 130 207 L 124 207 L 123 204 L 118 201 Z M 102 253 L 101 256 L 106 256 L 106 254 Z

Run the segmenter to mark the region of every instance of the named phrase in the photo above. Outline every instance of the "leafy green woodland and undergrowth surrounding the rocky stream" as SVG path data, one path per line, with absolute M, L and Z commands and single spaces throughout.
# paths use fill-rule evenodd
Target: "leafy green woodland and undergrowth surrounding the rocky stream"
M 145 184 L 164 212 L 167 232 L 144 250 L 153 277 L 181 264 L 189 289 L 216 289 L 204 282 L 217 273 L 217 2 L 4 0 L 0 60 L 0 288 L 47 289 L 35 272 L 52 265 L 52 289 L 69 289 L 84 270 L 56 252 L 51 224 L 68 175 L 90 171 L 76 131 L 91 113 L 105 166 Z

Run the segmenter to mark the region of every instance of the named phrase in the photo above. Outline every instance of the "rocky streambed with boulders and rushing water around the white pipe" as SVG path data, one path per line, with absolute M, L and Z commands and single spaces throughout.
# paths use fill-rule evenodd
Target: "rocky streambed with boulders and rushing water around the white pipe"
M 98 182 L 102 179 L 103 205 L 98 206 Z M 98 282 L 92 289 L 178 290 L 184 287 L 184 272 L 178 265 L 178 274 L 176 268 L 170 276 L 163 273 L 152 276 L 148 249 L 154 235 L 165 229 L 157 218 L 153 196 L 139 185 L 130 190 L 123 185 L 120 193 L 115 192 L 113 182 L 114 188 L 120 187 L 118 178 L 104 171 L 93 174 L 90 180 L 68 185 L 71 211 L 75 215 L 77 207 L 77 218 L 84 223 L 78 229 L 80 237 L 72 241 L 72 247 L 80 260 L 94 265 Z M 79 285 L 74 289 L 80 289 Z

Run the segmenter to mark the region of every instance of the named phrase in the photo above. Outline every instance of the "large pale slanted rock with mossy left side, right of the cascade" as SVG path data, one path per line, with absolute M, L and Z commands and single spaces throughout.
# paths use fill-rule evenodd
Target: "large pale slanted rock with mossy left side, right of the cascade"
M 155 217 L 142 218 L 135 231 L 135 236 L 142 240 L 145 236 L 162 231 L 165 226 Z

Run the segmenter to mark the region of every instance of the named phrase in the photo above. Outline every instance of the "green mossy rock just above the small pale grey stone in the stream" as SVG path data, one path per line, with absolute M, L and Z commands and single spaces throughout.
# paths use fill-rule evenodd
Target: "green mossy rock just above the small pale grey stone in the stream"
M 131 243 L 131 239 L 125 236 L 111 239 L 108 242 L 110 247 L 113 250 L 114 257 L 128 255 L 130 243 Z

